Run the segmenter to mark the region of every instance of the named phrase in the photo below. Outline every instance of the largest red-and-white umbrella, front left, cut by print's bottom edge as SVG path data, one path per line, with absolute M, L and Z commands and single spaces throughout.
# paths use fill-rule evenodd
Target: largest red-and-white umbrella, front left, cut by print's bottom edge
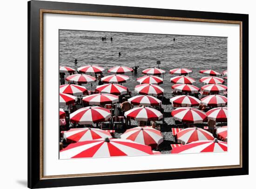
M 73 143 L 60 151 L 61 159 L 142 155 L 153 155 L 151 147 L 127 139 L 108 138 Z

